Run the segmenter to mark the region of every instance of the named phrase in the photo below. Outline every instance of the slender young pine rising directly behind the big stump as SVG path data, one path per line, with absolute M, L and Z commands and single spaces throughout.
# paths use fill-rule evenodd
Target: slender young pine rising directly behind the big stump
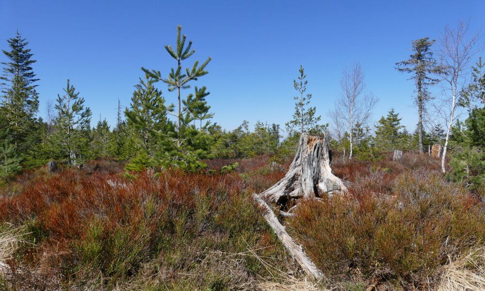
M 321 116 L 315 116 L 316 107 L 308 107 L 311 94 L 305 95 L 308 81 L 305 80 L 307 75 L 302 65 L 299 72 L 298 81 L 293 80 L 293 87 L 298 92 L 298 96 L 293 97 L 296 101 L 295 113 L 293 113 L 293 120 L 286 123 L 286 129 L 290 135 L 322 131 L 321 126 L 318 125 Z

